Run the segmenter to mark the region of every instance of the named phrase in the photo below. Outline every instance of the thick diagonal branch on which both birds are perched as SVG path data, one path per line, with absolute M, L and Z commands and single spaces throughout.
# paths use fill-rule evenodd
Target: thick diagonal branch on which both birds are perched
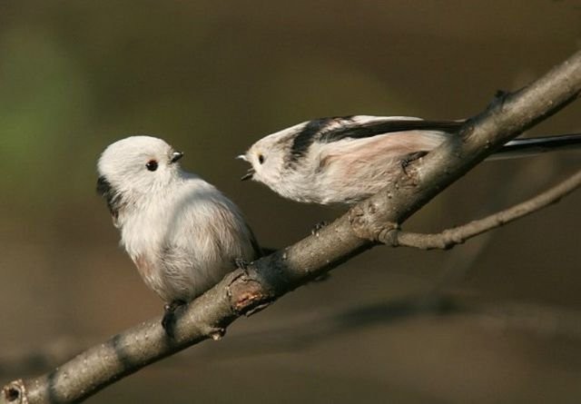
M 428 156 L 401 172 L 398 181 L 361 202 L 318 234 L 246 270 L 227 275 L 212 290 L 178 312 L 175 339 L 160 318 L 148 320 L 84 351 L 35 379 L 5 386 L 1 402 L 76 402 L 144 366 L 202 340 L 219 340 L 243 314 L 269 305 L 285 293 L 377 244 L 450 183 L 519 133 L 556 113 L 581 91 L 581 52 L 516 94 L 502 94 Z

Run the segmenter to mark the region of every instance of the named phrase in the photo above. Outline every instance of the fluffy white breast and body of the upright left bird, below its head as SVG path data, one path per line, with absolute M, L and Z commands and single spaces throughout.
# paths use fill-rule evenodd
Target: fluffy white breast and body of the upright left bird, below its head
M 222 192 L 183 176 L 119 218 L 122 243 L 164 301 L 191 300 L 220 281 L 236 258 L 252 260 L 252 234 Z

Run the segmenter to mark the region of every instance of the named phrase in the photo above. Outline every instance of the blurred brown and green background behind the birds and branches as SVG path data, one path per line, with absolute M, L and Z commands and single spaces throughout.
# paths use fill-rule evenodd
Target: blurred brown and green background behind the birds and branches
M 581 3 L 0 2 L 0 376 L 160 315 L 95 193 L 153 134 L 283 247 L 342 211 L 240 182 L 251 143 L 329 115 L 457 119 L 581 45 Z M 527 135 L 581 132 L 573 103 Z M 580 153 L 482 164 L 406 228 L 520 202 Z M 379 247 L 89 402 L 579 402 L 581 192 L 453 251 Z

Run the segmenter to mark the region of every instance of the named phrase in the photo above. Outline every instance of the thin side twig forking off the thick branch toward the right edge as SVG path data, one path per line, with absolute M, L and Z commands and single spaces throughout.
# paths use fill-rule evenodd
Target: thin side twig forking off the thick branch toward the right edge
M 568 193 L 573 192 L 581 186 L 581 171 L 576 172 L 566 179 L 547 190 L 540 193 L 526 202 L 518 203 L 507 210 L 491 214 L 478 221 L 469 222 L 462 226 L 446 229 L 437 234 L 424 234 L 416 232 L 403 232 L 392 230 L 381 235 L 381 242 L 394 247 L 416 247 L 422 250 L 448 250 L 457 244 L 461 244 L 468 239 L 478 236 L 483 232 L 503 226 L 509 222 L 516 221 L 532 212 L 537 212 L 548 205 L 559 202 Z

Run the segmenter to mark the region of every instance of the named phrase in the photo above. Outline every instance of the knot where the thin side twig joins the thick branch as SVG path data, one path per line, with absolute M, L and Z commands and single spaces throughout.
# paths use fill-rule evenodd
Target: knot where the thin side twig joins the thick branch
M 377 202 L 359 203 L 349 212 L 351 229 L 360 239 L 383 242 L 389 232 L 399 229 L 399 224 L 384 221 L 382 213 Z

